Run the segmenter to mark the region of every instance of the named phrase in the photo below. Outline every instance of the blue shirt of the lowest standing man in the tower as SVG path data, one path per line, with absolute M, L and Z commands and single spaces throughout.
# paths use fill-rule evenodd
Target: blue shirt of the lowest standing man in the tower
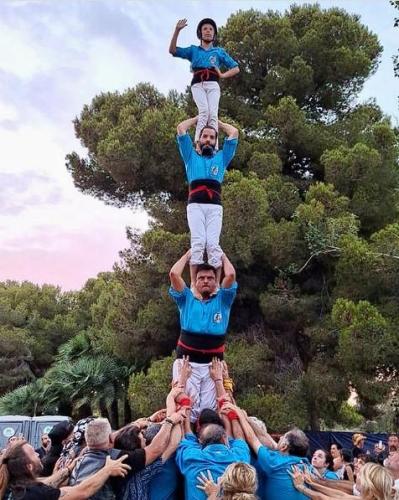
M 208 335 L 226 334 L 236 293 L 236 282 L 230 288 L 219 288 L 208 300 L 195 298 L 187 286 L 182 292 L 169 288 L 169 294 L 179 308 L 181 329 Z

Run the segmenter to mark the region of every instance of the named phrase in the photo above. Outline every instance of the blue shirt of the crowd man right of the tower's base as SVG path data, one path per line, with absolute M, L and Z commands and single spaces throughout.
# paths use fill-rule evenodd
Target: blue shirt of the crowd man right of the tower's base
M 258 451 L 258 464 L 266 476 L 262 497 L 268 500 L 281 500 L 282 498 L 306 500 L 308 497 L 295 489 L 291 476 L 288 474 L 292 465 L 301 463 L 310 465 L 307 458 L 283 455 L 278 451 L 269 450 L 266 446 L 261 446 Z

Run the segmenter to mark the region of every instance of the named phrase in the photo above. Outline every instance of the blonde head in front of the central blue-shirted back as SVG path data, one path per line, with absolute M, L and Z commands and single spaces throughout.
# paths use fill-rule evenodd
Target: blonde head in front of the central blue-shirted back
M 244 462 L 230 464 L 219 482 L 223 500 L 256 500 L 258 481 L 256 470 Z

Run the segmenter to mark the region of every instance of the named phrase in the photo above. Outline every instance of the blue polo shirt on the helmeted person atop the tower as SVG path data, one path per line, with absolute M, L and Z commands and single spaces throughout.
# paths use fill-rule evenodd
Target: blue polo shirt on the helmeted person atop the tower
M 174 57 L 188 59 L 192 68 L 235 68 L 238 63 L 222 49 L 222 47 L 210 47 L 204 49 L 200 45 L 190 45 L 189 47 L 176 47 Z

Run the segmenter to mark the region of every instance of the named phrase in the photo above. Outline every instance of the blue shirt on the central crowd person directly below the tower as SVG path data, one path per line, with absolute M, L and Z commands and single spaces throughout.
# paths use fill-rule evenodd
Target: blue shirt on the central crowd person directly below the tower
M 176 463 L 185 478 L 184 493 L 186 500 L 205 500 L 206 495 L 197 488 L 200 472 L 209 470 L 213 480 L 217 479 L 233 462 L 249 463 L 248 445 L 242 439 L 229 440 L 229 446 L 210 444 L 205 448 L 198 443 L 194 434 L 186 434 L 177 448 Z

